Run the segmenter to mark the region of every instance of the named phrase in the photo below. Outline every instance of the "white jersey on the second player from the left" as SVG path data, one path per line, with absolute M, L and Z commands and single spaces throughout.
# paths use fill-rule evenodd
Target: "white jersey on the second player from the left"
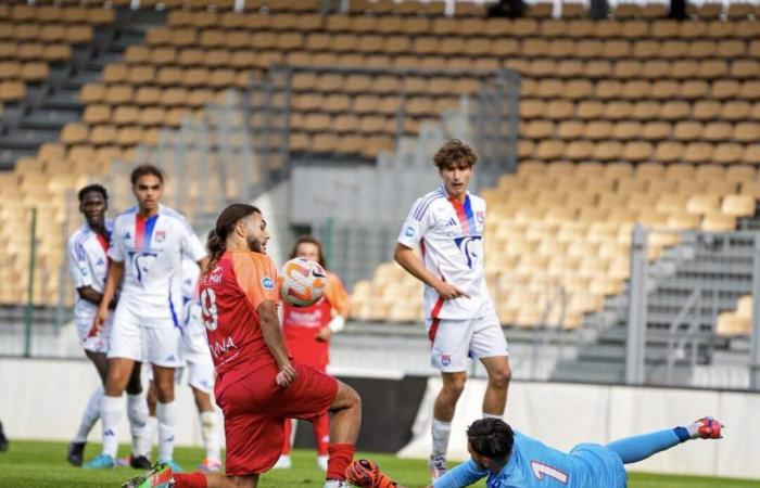
M 150 218 L 137 207 L 114 220 L 109 257 L 124 262 L 119 303 L 131 303 L 150 313 L 163 308 L 179 324 L 182 310 L 182 257 L 201 260 L 205 249 L 187 219 L 172 208 L 160 206 Z

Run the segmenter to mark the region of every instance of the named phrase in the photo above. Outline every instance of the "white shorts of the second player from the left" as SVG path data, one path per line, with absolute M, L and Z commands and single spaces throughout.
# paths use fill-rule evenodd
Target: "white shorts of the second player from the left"
M 180 329 L 170 318 L 150 317 L 121 301 L 111 329 L 109 358 L 128 358 L 163 368 L 182 365 Z

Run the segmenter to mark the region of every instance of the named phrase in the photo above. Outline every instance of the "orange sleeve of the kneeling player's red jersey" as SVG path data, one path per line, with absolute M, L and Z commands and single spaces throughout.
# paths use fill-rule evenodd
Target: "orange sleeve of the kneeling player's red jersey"
M 269 256 L 259 253 L 235 253 L 235 275 L 254 310 L 266 300 L 279 301 L 277 269 Z

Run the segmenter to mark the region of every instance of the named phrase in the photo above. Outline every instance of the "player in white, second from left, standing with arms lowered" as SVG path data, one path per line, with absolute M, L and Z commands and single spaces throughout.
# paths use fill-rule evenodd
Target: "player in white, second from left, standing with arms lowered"
M 122 415 L 119 397 L 136 361 L 153 364 L 159 397 L 159 460 L 176 466 L 174 370 L 181 365 L 181 259 L 188 256 L 203 266 L 206 253 L 185 217 L 160 204 L 164 177 L 159 168 L 135 168 L 131 183 L 138 206 L 114 220 L 109 278 L 94 321 L 97 329 L 105 323 L 109 303 L 122 284 L 101 408 L 103 452 L 85 465 L 89 468 L 114 465 Z

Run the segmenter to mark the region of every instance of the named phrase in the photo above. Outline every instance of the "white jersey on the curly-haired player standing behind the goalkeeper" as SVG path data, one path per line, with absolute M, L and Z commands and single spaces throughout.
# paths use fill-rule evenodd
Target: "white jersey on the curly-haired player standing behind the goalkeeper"
M 411 206 L 398 243 L 419 245 L 425 267 L 470 296 L 443 300 L 426 285 L 426 318 L 467 320 L 493 311 L 483 271 L 484 226 L 485 201 L 469 192 L 461 203 L 441 185 Z

